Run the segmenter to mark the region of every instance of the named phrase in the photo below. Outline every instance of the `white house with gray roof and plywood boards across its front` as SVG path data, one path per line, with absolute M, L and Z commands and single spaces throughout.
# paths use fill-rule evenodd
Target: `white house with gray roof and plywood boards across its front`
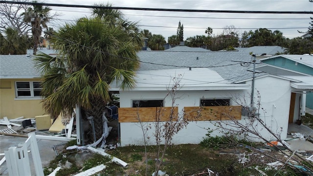
M 172 106 L 171 98 L 164 97 L 168 93 L 168 88 L 173 85 L 171 81 L 173 77 L 181 78 L 177 94 L 179 98 L 175 102 L 177 112 L 184 111 L 185 114 L 189 114 L 192 110 L 198 110 L 200 106 L 208 105 L 212 105 L 208 109 L 214 111 L 214 115 L 201 112 L 201 118 L 191 121 L 186 129 L 182 129 L 173 137 L 174 144 L 199 143 L 208 129 L 216 128 L 211 122 L 227 120 L 230 109 L 233 110 L 232 116 L 243 123 L 249 118 L 245 112 L 242 113 L 241 106 L 233 101 L 237 97 L 238 101 L 246 102 L 244 106 L 250 106 L 253 64 L 250 64 L 249 54 L 238 51 L 144 51 L 138 52 L 138 56 L 142 63 L 137 71 L 136 87 L 121 90 L 118 86 L 111 85 L 112 90 L 120 93 L 118 118 L 122 146 L 143 145 L 137 112 L 143 117 L 143 122 L 151 124 L 152 129 L 148 130 L 147 135 L 150 137 L 149 144 L 154 144 L 155 115 L 158 107 L 164 107 L 164 113 L 167 114 Z M 299 119 L 299 114 L 295 111 L 301 106 L 301 102 L 295 97 L 302 97 L 303 91 L 313 90 L 312 76 L 286 69 L 278 71 L 281 68 L 258 61 L 256 63 L 258 67 L 266 66 L 264 70 L 268 69 L 268 72 L 274 70 L 272 74 L 255 71 L 253 97 L 257 100 L 256 92 L 260 92 L 261 108 L 265 110 L 260 114 L 261 118 L 268 123 L 273 132 L 282 129 L 281 138 L 286 139 L 289 123 Z M 285 76 L 274 74 L 275 70 L 283 72 Z M 292 94 L 293 92 L 295 94 Z M 256 102 L 254 107 L 255 105 Z M 290 109 L 293 112 L 289 112 Z M 264 129 L 260 128 L 259 132 L 267 139 L 273 139 Z M 218 131 L 212 134 L 221 135 Z

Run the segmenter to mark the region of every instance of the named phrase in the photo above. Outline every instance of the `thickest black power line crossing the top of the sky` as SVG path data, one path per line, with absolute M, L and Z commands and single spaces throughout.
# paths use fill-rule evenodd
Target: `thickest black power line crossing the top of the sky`
M 164 8 L 142 8 L 142 7 L 107 7 L 96 5 L 54 4 L 42 2 L 17 2 L 0 0 L 0 3 L 23 4 L 23 5 L 45 5 L 55 7 L 78 7 L 78 8 L 101 8 L 120 10 L 143 10 L 143 11 L 167 11 L 167 12 L 205 12 L 205 13 L 245 13 L 245 14 L 313 14 L 312 11 L 247 11 L 247 10 L 195 10 L 195 9 L 164 9 Z

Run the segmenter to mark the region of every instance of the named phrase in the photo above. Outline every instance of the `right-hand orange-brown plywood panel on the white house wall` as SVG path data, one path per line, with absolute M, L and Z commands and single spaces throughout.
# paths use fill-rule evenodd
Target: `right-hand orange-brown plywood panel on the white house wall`
M 190 121 L 240 120 L 241 106 L 184 107 Z

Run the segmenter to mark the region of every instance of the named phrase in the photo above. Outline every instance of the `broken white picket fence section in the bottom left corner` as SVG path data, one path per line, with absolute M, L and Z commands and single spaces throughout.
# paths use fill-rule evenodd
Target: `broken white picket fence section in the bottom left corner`
M 19 144 L 18 147 L 10 147 L 4 151 L 6 165 L 9 176 L 31 176 L 27 148 L 30 146 L 30 152 L 34 162 L 36 176 L 44 176 L 43 166 L 39 154 L 36 135 L 34 132 L 28 133 L 28 139 Z

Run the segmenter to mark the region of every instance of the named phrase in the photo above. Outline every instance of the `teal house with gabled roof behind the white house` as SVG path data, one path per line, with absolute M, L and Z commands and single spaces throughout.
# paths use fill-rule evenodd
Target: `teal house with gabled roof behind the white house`
M 260 61 L 269 65 L 313 75 L 313 55 L 284 54 L 261 59 Z M 304 99 L 306 99 L 304 100 L 306 101 L 306 107 L 313 109 L 313 92 L 307 93 L 306 97 L 304 97 Z

